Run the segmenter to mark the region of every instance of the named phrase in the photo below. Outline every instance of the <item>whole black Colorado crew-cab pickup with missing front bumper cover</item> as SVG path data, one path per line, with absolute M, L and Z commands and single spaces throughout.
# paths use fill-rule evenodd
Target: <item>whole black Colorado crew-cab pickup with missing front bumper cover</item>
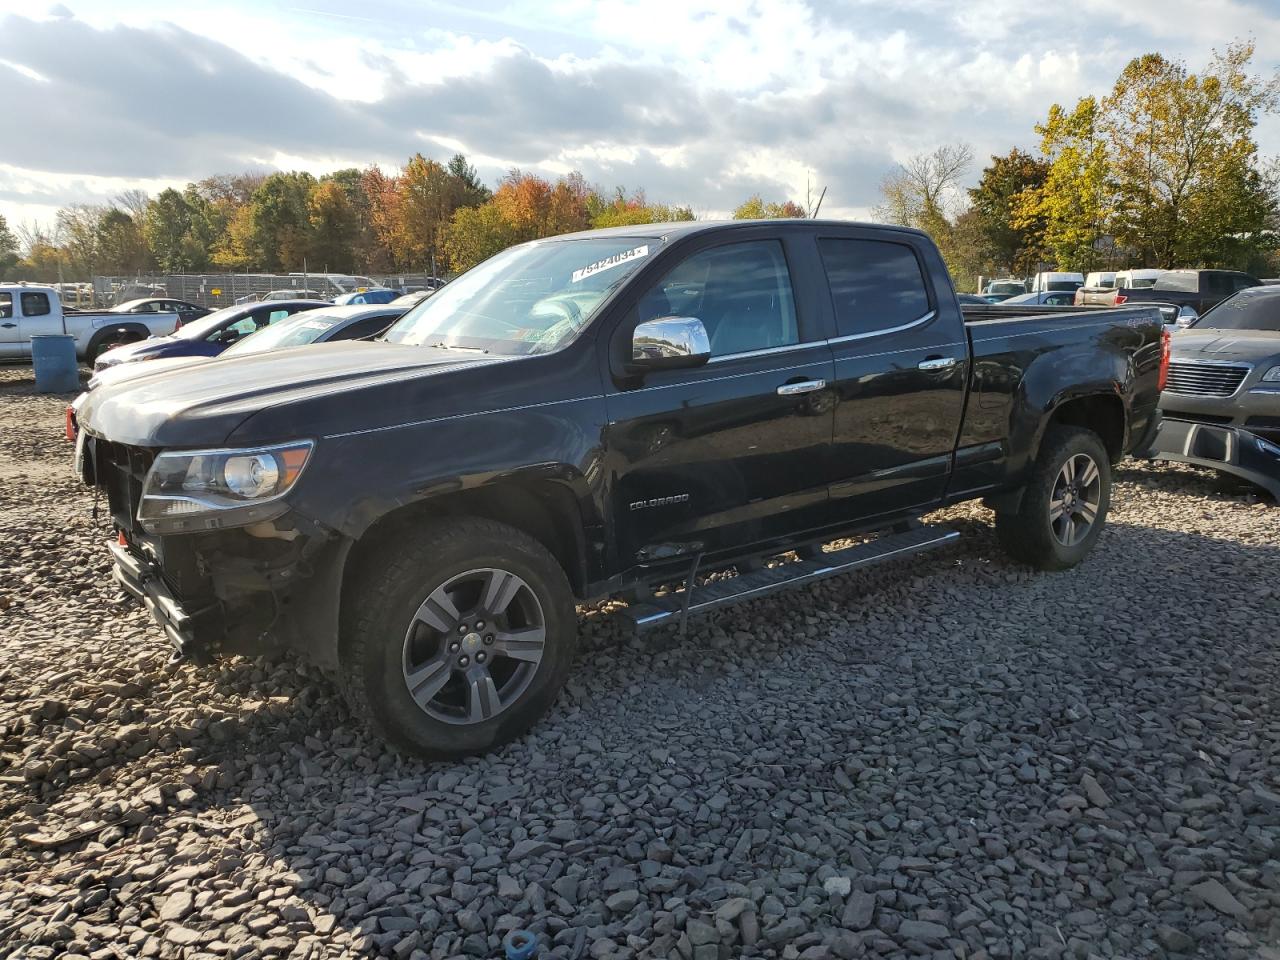
M 1018 559 L 1078 563 L 1157 426 L 1160 312 L 975 311 L 908 229 L 557 237 L 381 342 L 95 390 L 77 463 L 180 654 L 293 648 L 394 744 L 462 755 L 550 705 L 576 602 L 682 625 L 946 544 L 918 517 L 974 498 Z

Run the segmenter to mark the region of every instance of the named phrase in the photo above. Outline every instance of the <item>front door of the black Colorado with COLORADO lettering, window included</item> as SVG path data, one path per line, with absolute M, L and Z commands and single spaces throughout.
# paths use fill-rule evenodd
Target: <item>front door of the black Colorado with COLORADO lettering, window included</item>
M 712 358 L 607 394 L 620 567 L 822 522 L 833 367 L 812 308 L 797 303 L 788 255 L 776 238 L 705 247 L 667 271 L 625 324 L 698 317 Z

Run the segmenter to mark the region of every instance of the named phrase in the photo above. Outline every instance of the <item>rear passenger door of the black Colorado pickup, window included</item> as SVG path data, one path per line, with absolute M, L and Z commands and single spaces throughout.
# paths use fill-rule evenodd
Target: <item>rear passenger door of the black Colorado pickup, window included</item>
M 836 335 L 832 509 L 861 520 L 938 502 L 964 415 L 969 358 L 946 266 L 914 233 L 820 236 Z M 1073 294 L 1069 294 L 1074 297 Z

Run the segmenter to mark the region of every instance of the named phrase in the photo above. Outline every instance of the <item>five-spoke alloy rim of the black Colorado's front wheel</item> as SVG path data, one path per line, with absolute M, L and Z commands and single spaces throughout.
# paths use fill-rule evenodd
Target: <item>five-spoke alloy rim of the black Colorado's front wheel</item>
M 529 689 L 547 620 L 527 582 L 494 567 L 435 588 L 404 632 L 402 672 L 413 703 L 444 723 L 484 723 Z

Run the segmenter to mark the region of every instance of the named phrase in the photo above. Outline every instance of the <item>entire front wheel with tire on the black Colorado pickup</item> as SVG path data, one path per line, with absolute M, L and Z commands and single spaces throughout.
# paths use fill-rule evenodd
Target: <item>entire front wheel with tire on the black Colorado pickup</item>
M 539 541 L 490 520 L 433 524 L 361 572 L 343 618 L 352 712 L 426 759 L 527 731 L 568 677 L 577 614 Z

